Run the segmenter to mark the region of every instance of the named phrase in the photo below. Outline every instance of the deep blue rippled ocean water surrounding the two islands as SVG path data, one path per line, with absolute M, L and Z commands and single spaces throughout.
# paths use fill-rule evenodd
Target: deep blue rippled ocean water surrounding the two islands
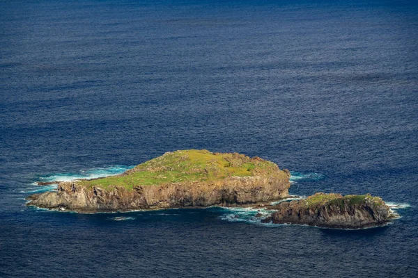
M 417 54 L 415 1 L 1 1 L 0 277 L 416 277 Z M 338 231 L 24 206 L 191 148 L 409 207 Z

